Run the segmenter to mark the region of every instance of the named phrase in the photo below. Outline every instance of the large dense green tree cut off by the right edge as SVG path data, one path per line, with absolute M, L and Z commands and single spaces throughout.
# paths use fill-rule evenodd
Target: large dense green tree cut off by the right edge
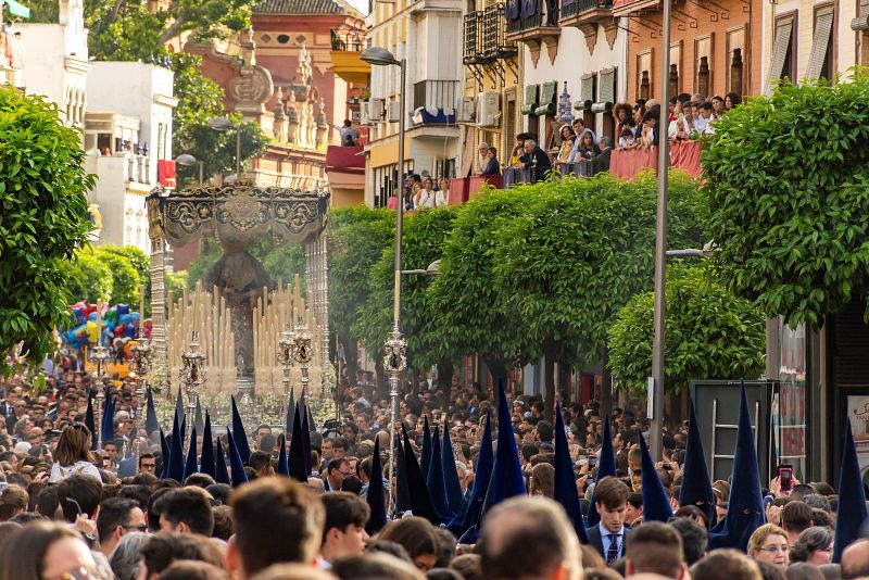
M 818 328 L 869 288 L 867 96 L 865 71 L 784 84 L 730 111 L 704 142 L 717 274 L 792 327 Z

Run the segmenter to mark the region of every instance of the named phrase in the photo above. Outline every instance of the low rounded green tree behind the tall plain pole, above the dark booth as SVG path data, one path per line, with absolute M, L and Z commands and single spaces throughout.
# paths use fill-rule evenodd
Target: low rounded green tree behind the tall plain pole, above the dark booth
M 760 308 L 733 295 L 706 266 L 667 273 L 668 392 L 693 379 L 755 378 L 764 373 L 766 325 Z M 634 295 L 609 329 L 609 364 L 620 388 L 645 392 L 652 375 L 653 292 Z

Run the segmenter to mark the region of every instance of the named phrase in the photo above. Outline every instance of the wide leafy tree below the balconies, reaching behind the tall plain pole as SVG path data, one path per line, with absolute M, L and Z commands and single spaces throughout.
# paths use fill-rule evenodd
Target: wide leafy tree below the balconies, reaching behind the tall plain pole
M 627 182 L 603 174 L 533 187 L 527 209 L 496 232 L 494 273 L 504 307 L 521 320 L 517 331 L 529 354 L 543 355 L 551 414 L 555 362 L 606 358 L 617 312 L 652 288 L 656 179 L 645 174 Z M 673 173 L 669 194 L 670 244 L 696 245 L 695 181 Z

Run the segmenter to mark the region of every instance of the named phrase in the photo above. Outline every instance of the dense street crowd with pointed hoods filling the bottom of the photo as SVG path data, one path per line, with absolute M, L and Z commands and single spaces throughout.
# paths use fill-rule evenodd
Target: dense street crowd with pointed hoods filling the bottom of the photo
M 147 432 L 129 381 L 108 390 L 113 438 L 93 450 L 96 387 L 68 363 L 42 388 L 26 374 L 0 380 L 0 580 L 869 579 L 867 539 L 831 562 L 845 506 L 826 482 L 782 490 L 773 479 L 761 492 L 766 524 L 719 549 L 715 521 L 732 505 L 742 517 L 740 476 L 707 482 L 711 503 L 680 503 L 690 426 L 665 426 L 664 461 L 652 464 L 635 408 L 614 409 L 610 423 L 594 401 L 558 398 L 553 416 L 539 396 L 424 384 L 402 398 L 393 442 L 386 393 L 344 378 L 339 418 L 301 437 L 307 446 L 293 447 L 298 421 L 219 434 L 216 455 L 228 450 L 230 464 L 252 440 L 230 482 L 225 464 L 217 476 L 196 468 L 211 447 L 200 438 L 192 472 L 171 476 L 176 442 Z M 281 476 L 288 447 L 310 451 L 307 477 Z M 653 487 L 668 505 L 650 505 Z M 652 515 L 662 509 L 672 517 Z

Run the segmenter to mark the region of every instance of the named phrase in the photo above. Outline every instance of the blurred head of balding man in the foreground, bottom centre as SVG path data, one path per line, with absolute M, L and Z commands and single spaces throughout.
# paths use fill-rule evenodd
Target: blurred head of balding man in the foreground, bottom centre
M 552 500 L 522 495 L 498 504 L 480 544 L 487 580 L 582 580 L 577 534 Z

